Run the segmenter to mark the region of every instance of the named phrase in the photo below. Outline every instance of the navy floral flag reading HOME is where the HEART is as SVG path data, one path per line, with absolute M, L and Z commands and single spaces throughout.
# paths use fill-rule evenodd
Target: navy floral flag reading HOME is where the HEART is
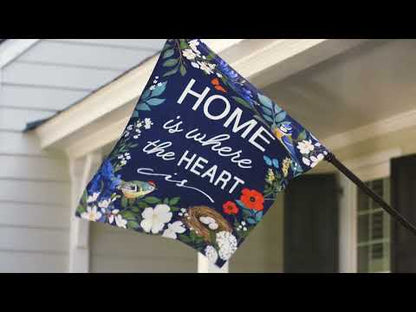
M 170 39 L 78 217 L 179 240 L 221 267 L 328 150 L 198 39 Z

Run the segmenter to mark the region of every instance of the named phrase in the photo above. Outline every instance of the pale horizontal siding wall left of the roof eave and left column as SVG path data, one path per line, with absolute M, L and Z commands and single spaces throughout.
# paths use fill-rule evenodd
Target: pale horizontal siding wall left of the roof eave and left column
M 33 133 L 22 132 L 26 124 L 77 102 L 162 44 L 40 40 L 0 68 L 0 272 L 69 269 L 69 164 L 42 151 Z

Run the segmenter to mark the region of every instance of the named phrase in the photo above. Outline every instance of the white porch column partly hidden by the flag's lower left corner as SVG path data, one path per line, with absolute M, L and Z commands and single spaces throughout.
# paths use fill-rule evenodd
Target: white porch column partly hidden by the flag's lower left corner
M 101 160 L 100 151 L 94 151 L 81 159 L 70 160 L 72 205 L 69 272 L 71 273 L 89 271 L 89 222 L 75 217 L 75 210 L 85 186 L 98 169 Z

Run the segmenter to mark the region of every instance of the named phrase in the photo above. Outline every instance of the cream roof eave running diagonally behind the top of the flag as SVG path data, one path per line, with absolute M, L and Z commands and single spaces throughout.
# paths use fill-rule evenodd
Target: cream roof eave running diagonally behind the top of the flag
M 257 87 L 282 80 L 364 40 L 259 39 L 205 40 Z M 64 149 L 81 157 L 117 140 L 130 118 L 158 56 L 123 74 L 76 105 L 31 128 L 42 148 Z M 37 127 L 36 127 L 37 126 Z

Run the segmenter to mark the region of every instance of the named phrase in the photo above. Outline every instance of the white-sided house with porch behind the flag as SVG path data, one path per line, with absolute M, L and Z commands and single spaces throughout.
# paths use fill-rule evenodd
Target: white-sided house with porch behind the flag
M 205 41 L 391 200 L 403 171 L 392 159 L 416 153 L 416 40 Z M 163 43 L 0 44 L 1 272 L 412 270 L 411 239 L 327 163 L 291 183 L 222 270 L 181 243 L 76 219 L 79 196 L 121 135 Z M 416 209 L 408 166 L 410 182 L 394 197 L 406 213 Z

